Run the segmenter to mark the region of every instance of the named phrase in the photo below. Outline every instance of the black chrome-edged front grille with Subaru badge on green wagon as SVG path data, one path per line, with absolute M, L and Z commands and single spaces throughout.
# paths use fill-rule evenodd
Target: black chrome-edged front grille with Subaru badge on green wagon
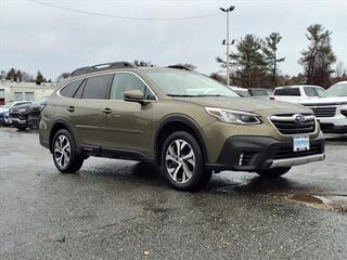
M 297 120 L 301 117 L 301 121 Z M 270 117 L 273 126 L 283 134 L 311 133 L 316 131 L 314 116 L 310 114 L 283 114 Z

